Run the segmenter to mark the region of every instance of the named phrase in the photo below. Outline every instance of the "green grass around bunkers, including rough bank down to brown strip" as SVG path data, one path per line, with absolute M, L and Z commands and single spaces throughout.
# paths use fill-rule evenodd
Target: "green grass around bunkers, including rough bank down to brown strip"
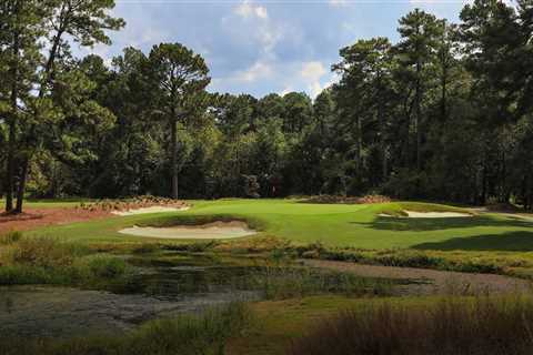
M 464 209 L 418 202 L 353 205 L 309 204 L 298 200 L 189 202 L 193 207 L 188 211 L 111 216 L 41 227 L 24 232 L 24 235 L 52 236 L 103 250 L 148 243 L 195 245 L 199 242 L 194 240 L 160 240 L 124 235 L 119 231 L 133 225 L 198 225 L 238 220 L 247 222 L 258 234 L 218 241 L 225 245 L 219 251 L 266 252 L 280 247 L 280 243 L 264 241 L 286 241 L 292 245 L 323 245 L 329 250 L 324 255 L 301 253 L 300 256 L 304 257 L 533 277 L 533 222 L 513 215 L 483 213 L 471 217 L 404 217 L 405 210 L 472 214 Z M 392 217 L 380 216 L 382 213 Z M 250 248 L 247 244 L 258 245 Z

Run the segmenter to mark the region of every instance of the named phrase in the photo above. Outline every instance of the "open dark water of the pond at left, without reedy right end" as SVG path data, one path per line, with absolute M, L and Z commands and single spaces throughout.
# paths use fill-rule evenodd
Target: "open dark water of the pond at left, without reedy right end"
M 128 331 L 145 321 L 199 312 L 259 293 L 239 287 L 253 266 L 207 258 L 133 257 L 135 273 L 108 291 L 53 286 L 0 287 L 0 336 L 70 337 Z M 245 287 L 244 287 L 245 288 Z

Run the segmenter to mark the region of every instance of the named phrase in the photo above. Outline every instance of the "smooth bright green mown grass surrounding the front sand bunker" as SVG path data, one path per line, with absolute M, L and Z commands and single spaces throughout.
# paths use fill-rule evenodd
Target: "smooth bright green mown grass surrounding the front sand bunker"
M 443 205 L 409 203 L 410 210 L 452 210 Z M 53 235 L 83 242 L 153 241 L 119 234 L 133 224 L 169 224 L 199 217 L 234 216 L 261 225 L 262 235 L 285 237 L 301 243 L 361 248 L 533 251 L 533 223 L 485 214 L 465 219 L 380 217 L 399 212 L 401 203 L 374 205 L 304 204 L 284 200 L 197 201 L 187 212 L 161 213 L 74 223 L 40 229 L 32 234 Z

